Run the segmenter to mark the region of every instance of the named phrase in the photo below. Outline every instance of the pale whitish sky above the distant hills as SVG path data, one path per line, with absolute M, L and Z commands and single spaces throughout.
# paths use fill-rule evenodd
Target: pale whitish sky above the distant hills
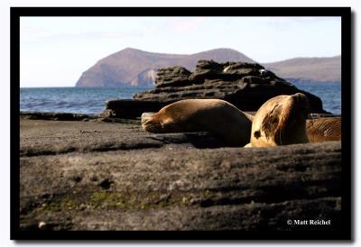
M 262 62 L 341 53 L 339 17 L 21 17 L 21 87 L 72 87 L 132 47 L 192 54 L 231 48 Z

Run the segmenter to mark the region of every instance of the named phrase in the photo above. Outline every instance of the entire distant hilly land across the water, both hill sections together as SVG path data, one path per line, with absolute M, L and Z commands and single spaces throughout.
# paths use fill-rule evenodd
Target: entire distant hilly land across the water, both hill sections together
M 153 53 L 126 48 L 98 60 L 93 67 L 82 73 L 76 87 L 150 87 L 154 85 L 158 69 L 182 66 L 193 71 L 199 59 L 212 59 L 217 62 L 256 62 L 237 50 L 224 48 L 191 55 Z M 262 65 L 273 70 L 277 76 L 291 81 L 341 81 L 341 56 L 287 59 Z

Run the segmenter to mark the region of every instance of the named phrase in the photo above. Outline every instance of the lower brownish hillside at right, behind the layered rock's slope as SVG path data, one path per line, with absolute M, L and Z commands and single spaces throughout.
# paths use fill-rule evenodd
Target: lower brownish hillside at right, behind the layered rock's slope
M 341 56 L 287 59 L 263 65 L 277 76 L 292 79 L 292 81 L 341 81 Z

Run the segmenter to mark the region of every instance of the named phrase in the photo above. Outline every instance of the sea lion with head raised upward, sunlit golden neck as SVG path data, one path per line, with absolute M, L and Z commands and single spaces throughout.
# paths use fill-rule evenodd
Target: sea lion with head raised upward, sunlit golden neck
M 310 103 L 307 96 L 275 96 L 256 112 L 251 140 L 245 147 L 273 147 L 309 142 L 306 118 Z

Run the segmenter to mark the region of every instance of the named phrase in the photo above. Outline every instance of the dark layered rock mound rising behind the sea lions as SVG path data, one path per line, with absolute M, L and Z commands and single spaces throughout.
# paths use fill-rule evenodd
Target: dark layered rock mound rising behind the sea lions
M 170 104 L 187 98 L 219 98 L 243 111 L 257 111 L 274 96 L 303 93 L 312 113 L 325 113 L 318 96 L 294 87 L 256 63 L 199 60 L 196 70 L 175 67 L 161 69 L 156 88 L 134 95 L 135 100 Z M 116 111 L 116 110 L 115 110 Z

